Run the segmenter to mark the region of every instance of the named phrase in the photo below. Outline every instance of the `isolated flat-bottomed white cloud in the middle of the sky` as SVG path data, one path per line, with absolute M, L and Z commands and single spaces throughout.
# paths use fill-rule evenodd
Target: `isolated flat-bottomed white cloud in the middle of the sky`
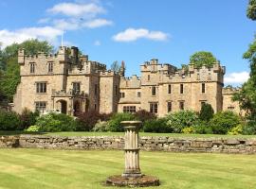
M 127 28 L 126 30 L 119 32 L 113 36 L 113 40 L 116 42 L 133 42 L 138 39 L 148 39 L 154 41 L 166 41 L 169 34 L 162 31 L 150 31 L 145 28 Z

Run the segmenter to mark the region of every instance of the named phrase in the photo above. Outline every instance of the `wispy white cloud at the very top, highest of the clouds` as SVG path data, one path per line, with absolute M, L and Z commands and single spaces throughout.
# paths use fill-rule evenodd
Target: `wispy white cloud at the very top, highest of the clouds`
M 95 17 L 100 13 L 104 13 L 105 9 L 95 3 L 78 4 L 78 3 L 60 3 L 51 9 L 47 9 L 48 12 L 54 14 L 64 14 L 71 17 Z

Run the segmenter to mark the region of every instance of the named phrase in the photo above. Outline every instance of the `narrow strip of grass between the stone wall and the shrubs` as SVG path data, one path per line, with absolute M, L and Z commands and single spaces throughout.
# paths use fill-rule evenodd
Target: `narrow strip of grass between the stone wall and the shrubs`
M 4 131 L 0 130 L 1 135 L 16 134 L 43 134 L 54 136 L 123 136 L 123 132 L 25 132 L 25 131 Z M 139 132 L 140 136 L 170 136 L 170 137 L 189 137 L 189 138 L 256 138 L 256 135 L 219 135 L 219 134 L 183 134 L 183 133 L 152 133 Z

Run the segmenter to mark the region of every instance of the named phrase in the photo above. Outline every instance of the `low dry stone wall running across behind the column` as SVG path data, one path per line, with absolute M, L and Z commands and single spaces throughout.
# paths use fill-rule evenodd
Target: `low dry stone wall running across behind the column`
M 51 149 L 123 149 L 122 136 L 61 137 L 45 135 L 1 136 L 1 147 Z M 139 147 L 147 151 L 217 152 L 256 154 L 256 138 L 174 138 L 140 137 Z

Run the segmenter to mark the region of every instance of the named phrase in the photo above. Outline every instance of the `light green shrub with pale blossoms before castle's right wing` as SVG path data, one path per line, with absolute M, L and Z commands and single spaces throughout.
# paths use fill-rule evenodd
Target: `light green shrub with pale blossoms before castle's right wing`
M 191 127 L 198 121 L 198 115 L 193 111 L 180 111 L 170 113 L 166 116 L 167 126 L 174 132 L 180 133 L 182 129 Z

